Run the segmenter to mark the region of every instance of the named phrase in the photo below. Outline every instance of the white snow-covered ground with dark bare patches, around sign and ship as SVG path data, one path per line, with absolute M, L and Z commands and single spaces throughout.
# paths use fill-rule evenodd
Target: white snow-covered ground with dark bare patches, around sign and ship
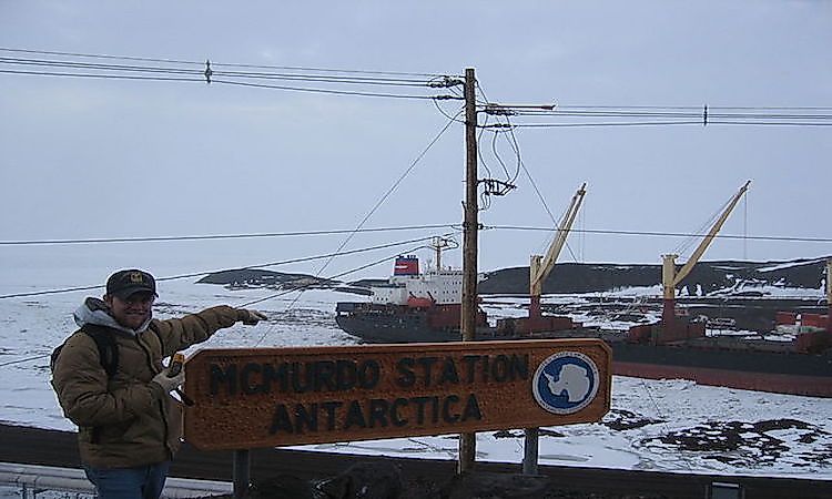
M 16 268 L 0 284 L 0 295 L 95 284 L 100 272 Z M 160 283 L 156 316 L 216 304 L 243 306 L 275 293 L 227 291 L 193 281 Z M 100 294 L 97 289 L 0 298 L 0 420 L 73 429 L 50 389 L 48 357 L 73 330 L 72 310 L 84 296 Z M 255 307 L 268 315 L 268 322 L 235 326 L 200 347 L 354 344 L 356 338 L 336 326 L 333 312 L 336 302 L 354 299 L 361 298 L 311 291 L 264 301 Z M 581 298 L 550 296 L 545 303 L 576 299 Z M 489 297 L 486 302 L 493 316 L 521 314 L 518 298 Z M 541 435 L 541 464 L 832 480 L 832 399 L 706 387 L 687 380 L 615 377 L 612 409 L 602 421 L 547 428 Z M 453 459 L 457 442 L 455 436 L 437 436 L 304 448 Z M 480 460 L 519 464 L 522 431 L 479 434 L 477 455 Z

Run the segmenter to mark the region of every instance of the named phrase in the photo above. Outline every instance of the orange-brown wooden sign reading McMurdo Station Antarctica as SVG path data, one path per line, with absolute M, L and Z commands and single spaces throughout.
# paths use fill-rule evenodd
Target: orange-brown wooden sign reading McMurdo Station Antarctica
M 474 432 L 599 420 L 598 339 L 205 349 L 185 364 L 200 449 Z

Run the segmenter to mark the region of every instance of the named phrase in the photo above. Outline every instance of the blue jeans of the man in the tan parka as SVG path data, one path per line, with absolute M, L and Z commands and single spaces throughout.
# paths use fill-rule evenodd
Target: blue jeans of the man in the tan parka
M 84 472 L 99 499 L 159 499 L 171 461 L 135 468 L 92 468 Z

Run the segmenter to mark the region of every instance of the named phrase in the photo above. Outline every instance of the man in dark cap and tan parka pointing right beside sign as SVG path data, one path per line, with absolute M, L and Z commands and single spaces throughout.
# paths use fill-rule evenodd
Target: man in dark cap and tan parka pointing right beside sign
M 64 415 L 78 425 L 81 461 L 102 499 L 156 499 L 162 492 L 182 430 L 171 390 L 184 379 L 184 373 L 166 371 L 162 359 L 237 322 L 266 318 L 221 305 L 153 319 L 156 296 L 146 272 L 111 275 L 103 301 L 87 298 L 75 310 L 80 329 L 54 359 L 52 386 Z M 102 336 L 111 348 L 102 347 L 108 345 Z

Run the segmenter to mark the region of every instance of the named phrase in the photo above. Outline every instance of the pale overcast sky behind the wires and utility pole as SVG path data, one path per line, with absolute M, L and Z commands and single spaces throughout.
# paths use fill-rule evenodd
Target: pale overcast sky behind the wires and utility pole
M 832 114 L 832 2 L 826 1 L 1 0 L 0 47 L 210 59 L 215 69 L 240 63 L 459 75 L 475 68 L 480 99 L 489 102 L 557 103 L 562 109 L 825 106 L 768 112 Z M 9 51 L 0 57 L 45 59 Z M 8 60 L 0 63 L 0 70 L 20 69 Z M 442 101 L 437 109 L 430 100 L 204 82 L 0 73 L 0 240 L 351 230 L 448 123 L 445 114 L 456 114 L 460 105 Z M 514 124 L 555 121 L 511 119 Z M 493 130 L 483 133 L 480 149 L 491 175 L 499 176 Z M 497 151 L 513 173 L 516 155 L 507 136 L 497 135 Z M 550 226 L 535 186 L 559 217 L 587 182 L 576 228 L 691 233 L 701 231 L 752 180 L 747 202 L 738 205 L 722 234 L 832 237 L 832 126 L 518 128 L 515 138 L 528 175 L 520 171 L 513 193 L 491 198 L 480 213 L 485 225 Z M 463 125 L 453 123 L 365 227 L 460 222 L 464 166 Z M 485 169 L 480 176 L 487 176 Z M 346 249 L 439 232 L 359 234 Z M 189 256 L 177 268 L 186 272 L 189 264 L 200 271 L 206 262 L 233 267 L 325 254 L 344 237 L 209 241 L 180 244 L 175 251 L 172 243 L 32 251 L 126 252 L 136 266 L 146 266 L 143 253 L 182 251 Z M 535 231 L 485 231 L 479 268 L 528 265 L 529 254 L 545 251 L 547 237 Z M 572 234 L 571 254 L 565 251 L 560 261 L 658 264 L 661 254 L 683 242 Z M 339 258 L 323 273 L 405 247 Z M 459 264 L 456 253 L 446 262 Z M 830 254 L 829 242 L 720 240 L 706 259 Z M 315 273 L 319 266 L 288 269 Z M 371 273 L 385 275 L 387 268 Z

